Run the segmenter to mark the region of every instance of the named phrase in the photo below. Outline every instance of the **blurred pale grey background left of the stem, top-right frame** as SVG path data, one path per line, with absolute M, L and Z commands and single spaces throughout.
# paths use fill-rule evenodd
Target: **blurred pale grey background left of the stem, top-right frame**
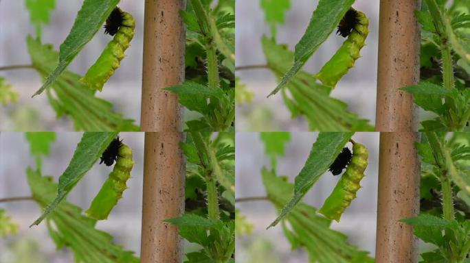
M 286 43 L 293 50 L 305 32 L 317 6 L 317 0 L 291 0 L 291 9 L 286 14 L 286 23 L 278 27 L 278 43 Z M 379 1 L 357 0 L 353 5 L 366 13 L 370 33 L 366 47 L 361 50 L 362 58 L 340 81 L 331 95 L 345 101 L 349 110 L 375 123 L 375 101 L 377 84 L 377 39 L 379 27 Z M 260 1 L 236 1 L 236 66 L 265 64 L 260 38 L 270 36 L 265 23 L 265 13 Z M 317 73 L 342 45 L 344 38 L 331 34 L 304 66 L 304 71 Z M 254 92 L 254 101 L 237 104 L 236 129 L 238 131 L 307 131 L 308 123 L 303 118 L 291 119 L 284 106 L 282 96 L 266 96 L 276 87 L 276 77 L 266 69 L 237 71 L 240 82 Z

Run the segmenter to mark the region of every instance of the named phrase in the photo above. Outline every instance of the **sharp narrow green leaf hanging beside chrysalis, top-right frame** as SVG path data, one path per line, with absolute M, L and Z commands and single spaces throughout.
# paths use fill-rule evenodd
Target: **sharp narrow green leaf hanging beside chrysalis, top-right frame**
M 300 68 L 309 60 L 311 55 L 333 32 L 344 14 L 353 5 L 355 0 L 320 0 L 313 12 L 312 18 L 302 39 L 295 45 L 295 60 L 291 69 L 282 77 L 280 84 L 269 96 L 276 94 L 291 78 L 300 71 Z

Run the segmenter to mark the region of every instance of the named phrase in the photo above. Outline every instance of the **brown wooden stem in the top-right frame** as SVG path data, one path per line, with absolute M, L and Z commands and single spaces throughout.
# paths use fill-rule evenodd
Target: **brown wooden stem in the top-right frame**
M 414 11 L 420 0 L 381 0 L 376 129 L 417 131 L 413 97 L 399 88 L 419 81 L 421 32 Z

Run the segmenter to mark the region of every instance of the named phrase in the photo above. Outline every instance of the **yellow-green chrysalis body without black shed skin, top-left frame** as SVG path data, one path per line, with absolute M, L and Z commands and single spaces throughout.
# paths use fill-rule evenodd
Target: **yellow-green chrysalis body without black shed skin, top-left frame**
M 114 71 L 120 66 L 121 60 L 124 58 L 124 51 L 130 46 L 130 42 L 134 36 L 135 21 L 131 14 L 122 12 L 122 25 L 104 48 L 98 60 L 93 64 L 80 79 L 80 82 L 86 84 L 90 88 L 102 90 L 104 83 L 114 74 Z

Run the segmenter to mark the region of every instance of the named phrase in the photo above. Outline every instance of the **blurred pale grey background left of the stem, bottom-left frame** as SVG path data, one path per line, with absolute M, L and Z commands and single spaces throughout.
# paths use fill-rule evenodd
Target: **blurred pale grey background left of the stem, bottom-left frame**
M 69 164 L 82 133 L 61 132 L 56 134 L 52 143 L 51 155 L 43 160 L 43 175 L 52 175 L 56 181 Z M 98 221 L 97 228 L 109 232 L 113 242 L 125 249 L 140 252 L 140 232 L 142 217 L 142 169 L 144 160 L 144 133 L 120 133 L 126 145 L 133 149 L 134 167 L 128 189 L 117 203 L 108 220 Z M 30 154 L 30 145 L 23 132 L 0 133 L 0 199 L 6 197 L 31 196 L 25 170 L 28 166 L 36 167 Z M 89 173 L 70 192 L 67 201 L 86 210 L 91 200 L 107 179 L 112 167 L 104 164 L 91 168 Z M 41 214 L 38 205 L 33 201 L 16 201 L 0 203 L 12 221 L 19 223 L 19 234 L 0 238 L 0 263 L 26 262 L 18 261 L 19 255 L 33 257 L 35 263 L 74 262 L 68 249 L 56 251 L 56 246 L 45 223 L 29 228 L 29 225 Z M 16 260 L 16 261 L 15 261 Z

